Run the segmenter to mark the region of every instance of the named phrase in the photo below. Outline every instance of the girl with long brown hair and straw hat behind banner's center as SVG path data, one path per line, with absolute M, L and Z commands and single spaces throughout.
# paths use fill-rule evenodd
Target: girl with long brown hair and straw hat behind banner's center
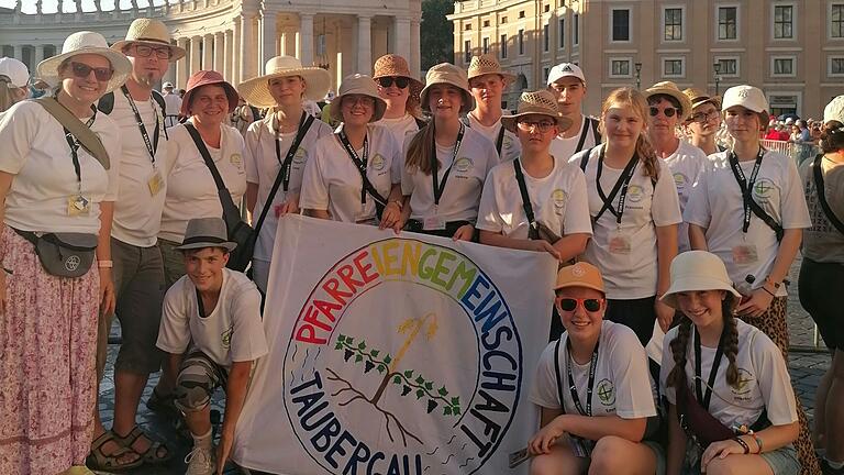
M 460 122 L 459 114 L 473 103 L 464 70 L 447 63 L 433 66 L 421 100 L 433 120 L 404 147 L 401 192 L 407 206 L 396 228 L 407 221 L 408 231 L 470 241 L 484 181 L 498 154 L 480 132 Z

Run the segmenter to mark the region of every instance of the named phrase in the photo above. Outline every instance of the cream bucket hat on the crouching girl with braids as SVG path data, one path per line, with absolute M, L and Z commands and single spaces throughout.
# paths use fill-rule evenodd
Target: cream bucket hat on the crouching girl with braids
M 707 251 L 687 251 L 671 261 L 671 286 L 663 295 L 663 303 L 677 308 L 677 294 L 699 290 L 725 290 L 741 298 L 733 287 L 721 257 Z

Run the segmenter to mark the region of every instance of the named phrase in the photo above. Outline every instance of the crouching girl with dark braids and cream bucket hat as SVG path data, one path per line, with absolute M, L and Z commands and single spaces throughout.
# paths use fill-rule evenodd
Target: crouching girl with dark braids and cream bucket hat
M 665 335 L 659 374 L 668 475 L 800 471 L 786 362 L 765 333 L 733 316 L 741 297 L 714 254 L 689 251 L 671 263 L 662 300 L 685 318 Z

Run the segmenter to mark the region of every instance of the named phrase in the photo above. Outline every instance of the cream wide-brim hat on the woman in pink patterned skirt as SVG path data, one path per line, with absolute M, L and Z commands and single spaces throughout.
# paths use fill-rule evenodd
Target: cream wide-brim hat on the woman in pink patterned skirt
M 108 93 L 123 86 L 132 73 L 132 63 L 123 53 L 114 51 L 109 47 L 109 43 L 101 34 L 89 31 L 76 32 L 65 40 L 62 45 L 62 54 L 44 59 L 38 63 L 37 71 L 38 77 L 46 81 L 51 86 L 58 86 L 62 81 L 59 79 L 58 67 L 62 66 L 66 59 L 80 54 L 95 54 L 104 57 L 111 64 L 111 68 L 114 74 L 109 80 L 109 85 L 106 87 Z

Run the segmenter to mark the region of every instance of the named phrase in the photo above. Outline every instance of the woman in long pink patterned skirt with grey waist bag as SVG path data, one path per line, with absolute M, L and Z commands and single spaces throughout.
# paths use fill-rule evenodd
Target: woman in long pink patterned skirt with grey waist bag
M 97 318 L 114 310 L 109 234 L 121 146 L 118 126 L 92 106 L 119 88 L 131 68 L 99 33 L 74 33 L 62 54 L 37 69 L 58 85 L 55 100 L 78 120 L 62 123 L 35 101 L 19 102 L 0 118 L 3 474 L 53 475 L 71 466 L 71 473 L 90 473 L 84 465 L 96 409 Z M 68 131 L 84 133 L 85 126 L 100 137 L 110 164 Z M 30 241 L 34 232 L 98 241 L 96 264 L 80 277 L 47 273 Z M 65 266 L 76 269 L 74 264 Z M 115 465 L 141 463 L 125 449 L 112 456 Z

